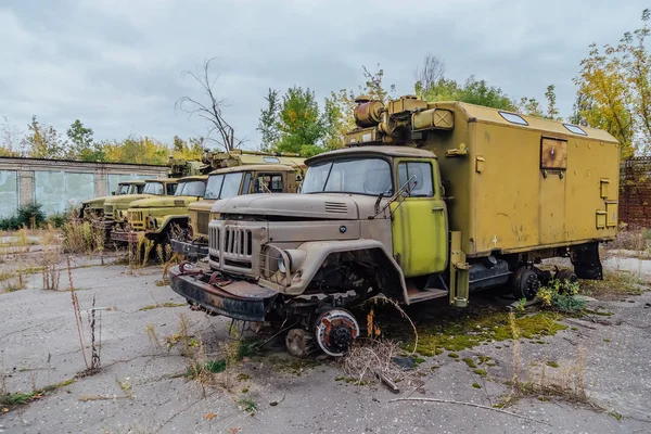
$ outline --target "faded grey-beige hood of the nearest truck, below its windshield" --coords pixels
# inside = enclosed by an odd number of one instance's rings
[[[246,194],[217,201],[213,213],[356,220],[373,215],[376,197],[359,194]],[[383,200],[382,203],[385,203]]]

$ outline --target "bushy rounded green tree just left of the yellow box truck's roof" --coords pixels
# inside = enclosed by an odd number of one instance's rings
[[[278,152],[311,153],[326,136],[326,125],[315,92],[294,86],[282,97],[278,119]]]

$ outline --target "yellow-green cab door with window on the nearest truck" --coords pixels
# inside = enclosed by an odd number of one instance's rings
[[[435,159],[397,159],[396,188],[407,195],[391,205],[393,248],[406,278],[441,272],[447,266],[447,209]]]

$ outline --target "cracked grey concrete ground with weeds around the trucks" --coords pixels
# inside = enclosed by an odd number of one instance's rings
[[[609,259],[608,267],[631,269],[651,281],[651,263]],[[41,399],[0,416],[2,433],[648,433],[651,432],[651,293],[593,301],[590,307],[608,317],[565,320],[567,329],[545,337],[545,345],[522,340],[522,366],[532,361],[574,360],[585,348],[585,385],[593,407],[537,396],[507,408],[527,419],[459,404],[397,401],[422,397],[474,403],[490,407],[510,393],[505,384],[512,372],[512,342],[495,342],[427,358],[421,392],[390,393],[380,384],[358,386],[335,381],[341,367],[324,360],[301,371],[278,369],[271,357],[242,363],[241,380],[231,393],[203,388],[182,375],[188,359],[176,348],[157,347],[145,329],[158,336],[179,331],[184,312],[195,335],[226,342],[228,321],[191,311],[169,288],[156,285],[161,268],[135,275],[124,266],[73,270],[74,285],[86,320],[95,297],[101,311],[100,373],[46,394]],[[61,289],[67,284],[62,275]],[[477,296],[477,304],[494,303]],[[144,307],[150,309],[141,310]],[[173,306],[173,305],[169,305]],[[445,308],[441,303],[419,308]],[[0,352],[11,392],[31,391],[73,378],[85,369],[67,291],[41,289],[41,277],[30,277],[27,289],[0,294]],[[87,327],[87,324],[85,324]],[[88,329],[88,327],[87,327]],[[86,330],[88,334],[88,330]],[[488,356],[496,363],[482,378],[459,361]],[[282,356],[282,355],[281,355]],[[437,366],[437,369],[431,369]],[[552,368],[550,368],[550,371]],[[297,374],[299,373],[299,374]],[[482,388],[473,387],[477,383]],[[128,384],[128,386],[125,386]],[[246,391],[245,393],[243,391]],[[247,397],[258,409],[243,411]],[[270,405],[277,404],[277,405]],[[610,414],[609,414],[610,413]],[[613,416],[621,414],[622,418]],[[239,429],[239,430],[238,430]]]

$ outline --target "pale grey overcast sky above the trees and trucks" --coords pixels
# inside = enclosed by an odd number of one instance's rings
[[[366,4],[366,5],[365,5]],[[130,133],[167,142],[205,133],[175,112],[201,97],[184,69],[219,56],[217,93],[246,148],[267,88],[309,87],[320,101],[357,88],[380,63],[397,94],[413,92],[426,52],[447,76],[474,74],[510,97],[544,100],[557,86],[572,110],[572,78],[588,44],[616,43],[640,25],[642,1],[436,0],[230,2],[216,0],[1,0],[0,116],[31,115],[61,132],[76,118],[97,139]]]

